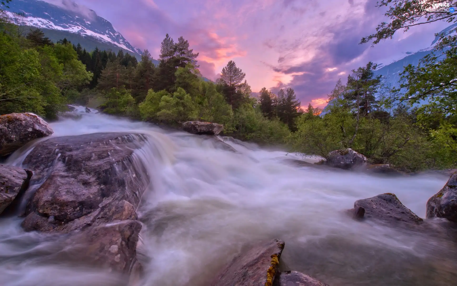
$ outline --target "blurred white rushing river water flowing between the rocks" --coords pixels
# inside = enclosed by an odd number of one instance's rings
[[[79,119],[52,123],[53,136],[142,130],[157,148],[136,153],[153,181],[138,209],[144,286],[206,286],[246,243],[272,238],[286,243],[283,269],[331,286],[452,285],[457,279],[457,253],[448,242],[344,215],[358,199],[392,192],[424,217],[426,201],[445,176],[388,178],[298,167],[285,159],[302,157],[283,151],[227,140],[233,152],[206,137],[77,112]],[[10,163],[20,164],[25,154],[19,155]],[[40,259],[64,246],[58,237],[24,232],[20,223],[0,219],[1,285],[125,285],[113,273]]]

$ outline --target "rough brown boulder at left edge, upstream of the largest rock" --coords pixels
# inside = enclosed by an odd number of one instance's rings
[[[33,113],[0,116],[0,156],[16,151],[28,142],[53,134],[49,124]]]

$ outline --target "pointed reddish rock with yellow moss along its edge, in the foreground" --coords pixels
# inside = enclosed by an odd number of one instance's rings
[[[213,286],[272,286],[284,242],[273,239],[240,254],[218,276]]]

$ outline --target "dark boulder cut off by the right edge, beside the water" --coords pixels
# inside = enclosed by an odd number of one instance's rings
[[[457,172],[427,201],[427,218],[441,217],[457,222]]]

